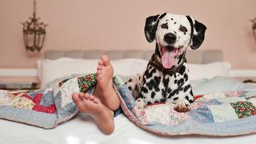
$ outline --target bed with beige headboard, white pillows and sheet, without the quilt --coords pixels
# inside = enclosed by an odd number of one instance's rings
[[[103,50],[71,50],[46,51],[45,59],[38,62],[38,77],[42,80],[42,87],[49,87],[54,81],[72,77],[83,71],[87,73],[95,70],[97,58],[107,54],[113,60],[115,72],[126,80],[143,70],[152,50],[103,51]],[[66,57],[66,58],[63,58]],[[75,59],[74,58],[78,58]],[[225,90],[256,90],[242,82],[229,78],[230,64],[223,62],[222,52],[219,50],[191,50],[187,52],[190,63],[192,87],[194,94],[208,94]],[[126,62],[126,64],[124,64]],[[87,64],[84,66],[83,64]],[[65,65],[65,66],[63,66]],[[79,68],[72,67],[74,65]],[[126,65],[126,66],[123,66]],[[95,67],[94,67],[95,66]],[[126,67],[134,66],[132,70]],[[56,70],[53,67],[57,67]],[[66,67],[69,67],[66,69]],[[205,73],[207,70],[207,73]],[[66,71],[66,74],[62,74]],[[69,122],[54,129],[44,130],[35,126],[28,126],[18,122],[0,119],[0,143],[67,143],[67,144],[98,144],[98,143],[241,143],[255,142],[254,134],[238,137],[209,137],[198,135],[163,137],[140,129],[130,122],[124,114],[114,118],[115,130],[113,134],[105,135],[98,130],[92,118],[86,114],[78,114]]]

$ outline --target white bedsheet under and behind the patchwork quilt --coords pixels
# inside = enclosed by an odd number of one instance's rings
[[[209,94],[222,90],[256,90],[255,86],[248,86],[234,79],[222,77],[192,82],[192,86],[194,88],[194,94]],[[227,138],[198,135],[162,137],[138,128],[123,114],[114,118],[114,122],[116,126],[114,133],[104,135],[98,130],[94,121],[86,114],[78,114],[77,117],[71,119],[69,122],[51,130],[44,130],[35,126],[0,119],[0,144],[236,144],[256,142],[256,134]]]

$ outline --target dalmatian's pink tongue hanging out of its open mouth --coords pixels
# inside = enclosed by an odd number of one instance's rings
[[[166,69],[170,69],[172,66],[174,66],[174,50],[166,50],[162,54],[162,66],[164,66]]]

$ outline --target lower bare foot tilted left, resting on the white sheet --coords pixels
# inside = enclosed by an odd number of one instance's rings
[[[96,122],[98,128],[104,134],[112,134],[114,131],[114,112],[104,106],[94,95],[74,93],[73,102],[78,109],[85,114],[89,114]]]

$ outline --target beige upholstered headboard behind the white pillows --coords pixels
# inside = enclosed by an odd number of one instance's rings
[[[154,50],[48,50],[45,52],[46,59],[57,58],[87,58],[98,59],[102,54],[107,54],[110,59],[121,58],[142,58],[149,60]],[[189,63],[209,63],[223,61],[221,50],[188,50],[186,52],[186,59]]]

